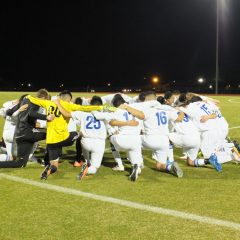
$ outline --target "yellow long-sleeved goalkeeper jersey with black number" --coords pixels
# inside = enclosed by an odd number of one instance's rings
[[[35,105],[38,105],[46,109],[47,115],[54,114],[55,118],[53,121],[47,122],[47,138],[46,143],[58,143],[66,140],[69,137],[68,122],[69,118],[65,118],[59,111],[57,104],[50,100],[43,100],[32,97],[30,95],[27,98]],[[61,100],[61,105],[67,111],[83,111],[91,112],[102,110],[102,106],[81,106],[78,104],[69,103]]]

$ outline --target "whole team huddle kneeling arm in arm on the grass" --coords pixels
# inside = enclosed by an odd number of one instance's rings
[[[41,179],[57,172],[62,148],[76,143],[75,167],[82,180],[96,174],[109,139],[116,166],[124,171],[120,152],[132,165],[129,176],[136,181],[144,168],[143,150],[152,151],[156,169],[183,177],[174,161],[174,148],[181,148],[191,167],[211,165],[217,172],[222,164],[240,161],[235,142],[228,138],[228,123],[219,102],[194,93],[168,91],[157,96],[145,91],[136,97],[122,93],[73,100],[69,91],[51,98],[40,89],[36,96],[23,95],[0,109],[5,118],[0,151],[0,168],[25,167],[35,159],[38,142],[46,139]],[[77,131],[77,129],[80,129]]]

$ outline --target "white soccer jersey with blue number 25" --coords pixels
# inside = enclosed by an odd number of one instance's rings
[[[80,122],[80,131],[85,138],[106,139],[107,130],[103,121],[97,120],[92,113],[71,112],[72,119]]]

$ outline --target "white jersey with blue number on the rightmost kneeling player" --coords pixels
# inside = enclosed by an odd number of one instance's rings
[[[186,108],[181,107],[180,109],[190,117],[199,131],[202,132],[217,128],[216,119],[209,119],[204,123],[200,121],[202,116],[214,113],[214,109],[209,104],[202,101],[194,102],[190,103]]]

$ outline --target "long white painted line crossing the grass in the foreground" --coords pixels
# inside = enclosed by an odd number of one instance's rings
[[[153,212],[153,213],[172,216],[172,217],[176,217],[176,218],[197,221],[200,223],[207,223],[207,224],[211,224],[211,225],[227,227],[227,228],[231,228],[231,229],[240,231],[239,223],[224,221],[224,220],[220,220],[217,218],[204,217],[204,216],[199,216],[196,214],[181,212],[181,211],[177,211],[177,210],[171,210],[171,209],[167,209],[167,208],[153,207],[153,206],[149,206],[146,204],[141,204],[141,203],[126,201],[126,200],[122,200],[122,199],[118,199],[118,198],[97,195],[97,194],[88,193],[88,192],[82,192],[80,190],[75,190],[75,189],[66,188],[66,187],[60,187],[60,186],[52,185],[52,184],[48,184],[48,183],[37,182],[37,181],[30,180],[30,179],[11,176],[11,175],[4,174],[4,173],[0,173],[0,178],[5,178],[7,180],[15,181],[18,183],[24,183],[24,184],[28,184],[31,186],[48,189],[48,190],[53,190],[56,192],[61,192],[61,193],[69,194],[69,195],[86,197],[86,198],[94,199],[94,200],[101,201],[101,202],[113,203],[113,204],[117,204],[120,206],[139,209],[139,210],[143,210],[143,211],[147,211],[147,212]]]

